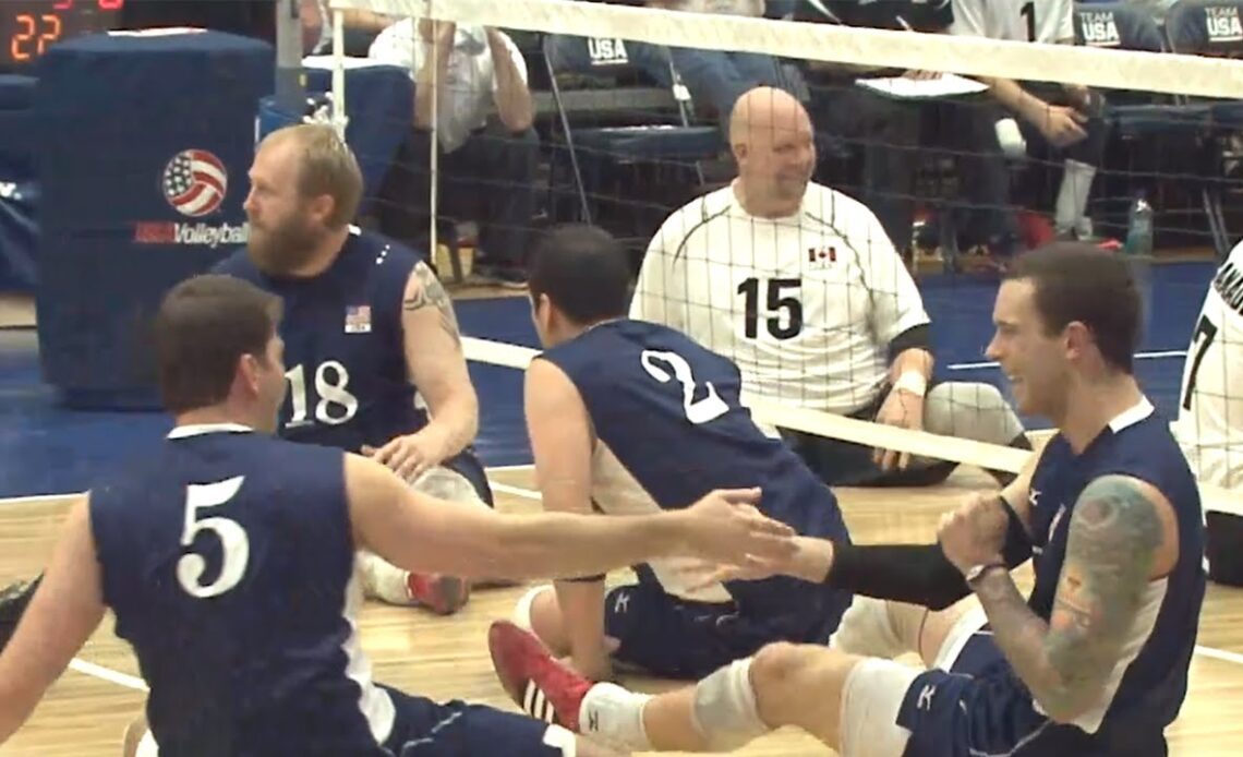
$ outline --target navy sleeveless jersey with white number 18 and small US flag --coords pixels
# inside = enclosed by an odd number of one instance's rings
[[[405,364],[401,300],[419,262],[408,247],[351,227],[341,255],[311,278],[268,276],[246,250],[215,272],[281,297],[288,397],[280,435],[358,451],[413,434],[426,423],[415,408]]]

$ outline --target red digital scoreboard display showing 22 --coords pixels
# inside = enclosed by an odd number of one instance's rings
[[[16,71],[48,47],[113,27],[126,0],[0,0],[0,70]]]

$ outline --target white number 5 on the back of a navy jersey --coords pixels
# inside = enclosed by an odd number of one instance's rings
[[[246,574],[250,562],[250,538],[237,521],[221,516],[199,520],[200,512],[227,505],[237,496],[245,476],[236,476],[215,484],[193,484],[185,490],[185,525],[181,528],[181,547],[193,549],[199,534],[210,533],[220,542],[221,564],[216,579],[204,585],[208,559],[189,551],[177,561],[177,580],[191,597],[206,599],[219,597],[236,587]]]

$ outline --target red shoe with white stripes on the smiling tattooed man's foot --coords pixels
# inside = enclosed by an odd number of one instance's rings
[[[578,710],[592,681],[562,665],[538,636],[508,620],[492,624],[487,648],[496,676],[523,712],[578,732]]]

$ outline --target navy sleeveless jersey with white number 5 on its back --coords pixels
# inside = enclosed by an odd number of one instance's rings
[[[162,755],[387,753],[394,705],[355,636],[343,452],[181,426],[89,506]]]

